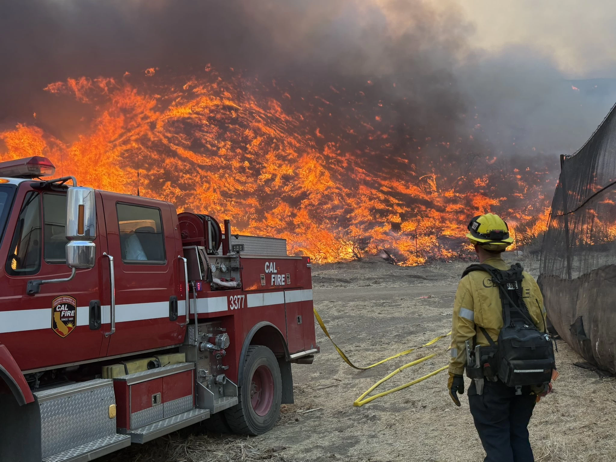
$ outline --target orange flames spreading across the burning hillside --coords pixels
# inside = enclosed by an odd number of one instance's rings
[[[400,136],[386,102],[365,108],[373,81],[365,91],[315,95],[223,78],[209,65],[181,80],[163,80],[158,68],[145,76],[139,85],[129,73],[49,84],[91,108],[89,127],[60,140],[18,124],[0,132],[0,160],[47,156],[62,176],[129,194],[139,166],[142,195],[286,238],[291,253],[316,262],[381,248],[405,264],[449,259],[468,251],[466,223],[476,214],[517,222],[546,214],[548,171],[467,155],[472,140],[463,137]]]

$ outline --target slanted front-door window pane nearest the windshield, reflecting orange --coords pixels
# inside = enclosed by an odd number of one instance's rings
[[[10,243],[7,274],[20,276],[36,274],[41,269],[41,197],[26,194],[17,227]]]

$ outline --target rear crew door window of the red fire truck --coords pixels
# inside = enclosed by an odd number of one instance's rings
[[[164,237],[160,209],[116,204],[122,260],[132,264],[164,264]]]

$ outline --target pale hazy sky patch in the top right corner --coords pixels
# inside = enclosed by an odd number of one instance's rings
[[[498,52],[522,45],[553,60],[570,78],[616,77],[614,0],[452,1],[474,25],[472,46]]]

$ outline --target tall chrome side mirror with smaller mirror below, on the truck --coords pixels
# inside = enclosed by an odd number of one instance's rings
[[[93,188],[76,186],[67,192],[67,266],[94,267],[96,261],[96,198]]]

